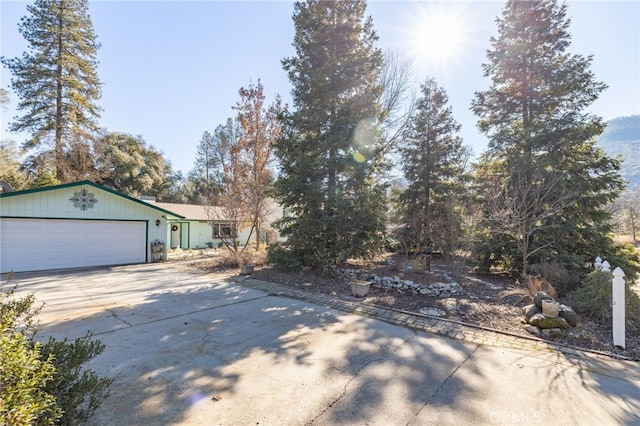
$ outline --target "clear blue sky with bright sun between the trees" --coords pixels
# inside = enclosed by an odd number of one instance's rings
[[[17,23],[25,1],[0,2],[2,55],[26,49]],[[489,37],[504,2],[370,1],[379,47],[414,62],[416,88],[432,76],[449,94],[460,135],[476,154],[486,139],[469,111],[473,94],[489,82],[482,76]],[[594,55],[592,71],[609,85],[592,112],[608,120],[640,114],[640,1],[569,1],[570,51]],[[227,118],[238,89],[261,79],[272,101],[290,103],[281,60],[294,54],[293,3],[288,1],[96,1],[90,14],[98,41],[98,74],[103,83],[101,126],[140,135],[161,150],[175,170],[193,168],[195,148],[205,130]],[[435,19],[434,19],[435,18]],[[429,31],[433,29],[433,31]],[[445,33],[447,36],[445,37]],[[452,40],[445,44],[444,40]],[[430,50],[434,46],[439,49]],[[1,87],[11,76],[2,69]],[[16,115],[13,93],[2,112],[3,140]]]

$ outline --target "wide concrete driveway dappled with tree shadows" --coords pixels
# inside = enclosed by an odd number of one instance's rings
[[[638,363],[431,335],[171,264],[17,274],[41,339],[91,330],[96,425],[639,424]]]

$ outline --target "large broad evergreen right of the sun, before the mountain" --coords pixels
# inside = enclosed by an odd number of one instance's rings
[[[508,1],[483,65],[491,85],[476,93],[472,108],[490,140],[483,162],[493,163],[484,169],[494,171],[493,186],[502,186],[495,193],[519,198],[520,203],[510,203],[520,210],[512,216],[531,222],[522,229],[532,235],[513,238],[527,238],[527,251],[536,252],[532,261],[582,268],[611,248],[605,206],[622,181],[618,162],[595,146],[602,120],[587,111],[606,85],[589,70],[592,57],[567,51],[566,14],[566,4],[555,0]],[[528,206],[526,212],[522,206]],[[544,214],[549,210],[553,214]],[[526,263],[524,269],[526,274]]]

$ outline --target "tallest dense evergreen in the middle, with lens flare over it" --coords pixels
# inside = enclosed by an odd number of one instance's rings
[[[281,232],[302,264],[325,267],[379,245],[383,57],[366,2],[294,6],[296,56],[283,60],[295,111],[276,144]]]

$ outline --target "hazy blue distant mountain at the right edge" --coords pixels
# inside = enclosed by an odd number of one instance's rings
[[[627,189],[640,189],[640,115],[610,120],[598,145],[610,156],[624,159],[620,174],[629,181]]]

